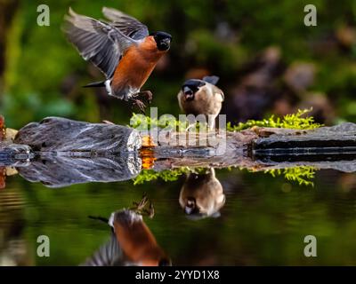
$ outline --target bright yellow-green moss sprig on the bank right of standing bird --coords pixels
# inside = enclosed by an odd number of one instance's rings
[[[302,117],[303,114],[307,114],[312,111],[311,109],[298,110],[296,114],[287,114],[283,118],[275,118],[271,115],[270,118],[263,119],[263,121],[249,120],[247,122],[239,122],[236,126],[231,126],[231,123],[227,123],[227,130],[239,131],[245,130],[250,127],[273,127],[273,128],[289,128],[296,130],[313,130],[322,126],[320,123],[314,122],[312,116]]]

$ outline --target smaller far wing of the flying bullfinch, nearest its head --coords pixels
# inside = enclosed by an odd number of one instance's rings
[[[149,29],[139,20],[134,19],[124,12],[117,11],[112,8],[103,7],[102,13],[105,18],[112,22],[115,28],[118,28],[125,36],[129,36],[134,40],[141,40],[149,36]]]

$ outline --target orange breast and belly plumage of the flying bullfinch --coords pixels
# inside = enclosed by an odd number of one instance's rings
[[[114,89],[125,85],[140,89],[164,53],[158,51],[153,36],[146,37],[140,45],[131,46],[115,70],[112,80]]]

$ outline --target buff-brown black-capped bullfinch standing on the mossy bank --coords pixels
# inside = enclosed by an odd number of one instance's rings
[[[178,93],[182,111],[195,116],[205,115],[209,130],[214,130],[215,118],[222,109],[224,99],[223,91],[215,86],[218,81],[217,76],[206,76],[203,80],[190,79],[183,83]]]

